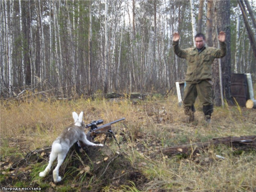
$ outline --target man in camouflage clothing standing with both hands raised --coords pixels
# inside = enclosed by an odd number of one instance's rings
[[[205,120],[211,122],[213,112],[212,103],[212,63],[215,58],[222,58],[226,55],[226,33],[221,31],[218,39],[220,49],[208,47],[205,44],[205,36],[198,33],[195,36],[196,47],[181,49],[179,47],[180,35],[173,34],[173,49],[175,54],[187,60],[188,69],[186,73],[186,88],[184,90],[184,111],[189,116],[189,122],[195,120],[194,103],[198,95],[203,104]]]

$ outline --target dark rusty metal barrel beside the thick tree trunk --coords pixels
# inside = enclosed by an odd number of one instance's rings
[[[239,106],[245,107],[247,95],[246,74],[231,73],[231,97],[234,97]]]

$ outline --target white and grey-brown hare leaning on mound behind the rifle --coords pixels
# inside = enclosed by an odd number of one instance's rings
[[[68,153],[69,148],[78,140],[82,141],[84,144],[92,146],[103,146],[102,144],[95,144],[86,139],[84,133],[85,124],[83,119],[84,112],[82,111],[79,116],[76,112],[73,112],[73,118],[75,124],[67,127],[59,137],[52,143],[52,151],[50,154],[49,164],[43,172],[39,173],[40,177],[45,177],[51,170],[52,162],[58,157],[58,163],[55,169],[52,172],[53,180],[55,183],[61,181],[59,176],[59,168],[63,163],[66,154]]]

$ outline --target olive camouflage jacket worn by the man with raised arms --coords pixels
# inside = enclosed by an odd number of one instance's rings
[[[188,69],[185,78],[187,83],[199,83],[204,79],[211,80],[213,60],[215,58],[222,58],[227,53],[225,42],[220,42],[220,49],[208,47],[205,44],[200,52],[198,52],[196,47],[181,49],[179,41],[173,41],[172,46],[178,57],[187,60]]]

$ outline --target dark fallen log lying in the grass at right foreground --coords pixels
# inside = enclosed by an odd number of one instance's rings
[[[202,150],[207,150],[210,146],[216,145],[228,145],[229,147],[246,149],[252,148],[256,150],[256,135],[242,136],[242,137],[222,137],[212,139],[208,142],[185,144],[176,147],[164,148],[161,151],[157,151],[151,156],[156,156],[159,153],[163,153],[167,156],[174,156],[178,154],[193,155],[200,153]]]

